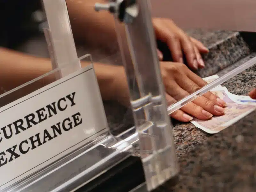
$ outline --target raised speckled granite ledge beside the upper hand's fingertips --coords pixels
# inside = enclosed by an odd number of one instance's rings
[[[250,54],[250,48],[239,32],[189,30],[188,34],[200,40],[210,52],[203,55],[205,68],[201,77],[211,76]]]

